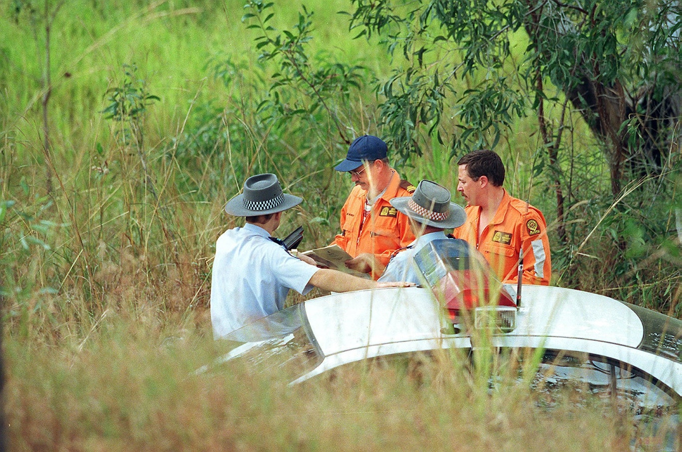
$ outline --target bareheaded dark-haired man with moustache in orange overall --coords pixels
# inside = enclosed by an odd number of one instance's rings
[[[499,155],[481,149],[459,162],[457,191],[467,202],[466,222],[454,237],[475,246],[503,283],[517,284],[523,250],[523,284],[548,286],[552,276],[545,217],[502,187],[505,167]]]

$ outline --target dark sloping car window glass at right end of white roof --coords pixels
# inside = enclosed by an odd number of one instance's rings
[[[644,336],[638,348],[682,363],[682,320],[625,304],[642,320]]]

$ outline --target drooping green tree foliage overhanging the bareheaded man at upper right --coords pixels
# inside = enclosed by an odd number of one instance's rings
[[[549,121],[546,103],[565,110],[569,102],[602,142],[615,196],[627,175],[662,172],[679,146],[677,0],[353,4],[351,29],[376,33],[406,60],[380,87],[383,117],[405,153],[421,153],[423,127],[454,155],[494,147],[533,111],[555,161],[565,124],[563,113]],[[442,127],[447,117],[458,119],[456,132]]]

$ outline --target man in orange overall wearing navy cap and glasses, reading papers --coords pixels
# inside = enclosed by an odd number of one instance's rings
[[[349,172],[355,187],[341,209],[341,233],[332,243],[353,257],[346,267],[372,273],[374,280],[395,250],[415,240],[408,217],[389,202],[411,196],[415,187],[400,179],[386,155],[383,140],[364,135],[351,143],[346,160],[334,167]]]

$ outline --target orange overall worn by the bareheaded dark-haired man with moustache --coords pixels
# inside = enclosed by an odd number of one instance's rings
[[[466,206],[466,222],[453,236],[475,245],[503,283],[518,282],[518,257],[523,247],[523,284],[549,286],[550,242],[542,212],[517,198],[504,197],[492,221],[477,237],[481,207]]]

